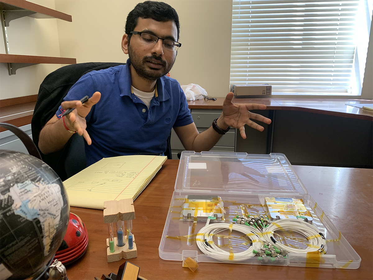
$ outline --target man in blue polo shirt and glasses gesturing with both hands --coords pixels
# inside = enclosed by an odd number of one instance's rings
[[[264,128],[250,119],[271,120],[249,112],[266,109],[259,104],[233,104],[233,93],[213,125],[198,133],[179,83],[165,74],[175,62],[179,18],[162,2],[139,3],[128,14],[122,50],[126,65],[92,71],[71,87],[56,115],[41,130],[39,148],[44,154],[62,149],[73,133],[86,140],[87,166],[101,158],[163,153],[172,127],[186,150],[210,150],[229,127],[246,138],[244,125]],[[89,96],[82,104],[83,96]],[[68,116],[62,113],[75,108]]]

